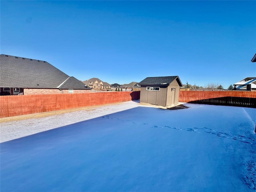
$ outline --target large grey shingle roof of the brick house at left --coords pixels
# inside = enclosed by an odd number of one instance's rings
[[[50,63],[42,60],[28,59],[10,55],[0,55],[0,86],[22,88],[58,88],[70,78]],[[67,83],[76,84],[76,78]],[[79,89],[85,89],[77,80]],[[63,83],[64,84],[64,83]],[[70,84],[70,85],[71,85]],[[68,84],[67,84],[68,85]],[[66,86],[66,88],[73,88]]]

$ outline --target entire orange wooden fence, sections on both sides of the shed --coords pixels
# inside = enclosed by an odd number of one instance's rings
[[[0,118],[139,98],[140,91],[0,96]],[[180,91],[179,102],[256,108],[256,91]]]

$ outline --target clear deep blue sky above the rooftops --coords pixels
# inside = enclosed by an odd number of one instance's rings
[[[256,76],[256,1],[0,1],[0,53],[110,84]]]

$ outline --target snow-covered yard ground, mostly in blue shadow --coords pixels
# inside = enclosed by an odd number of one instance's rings
[[[1,192],[255,191],[256,109],[185,105],[131,101],[2,123]]]

